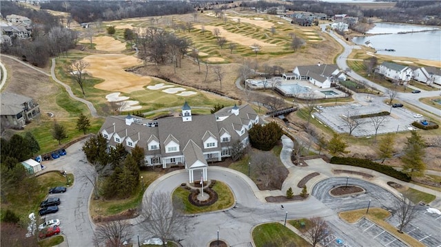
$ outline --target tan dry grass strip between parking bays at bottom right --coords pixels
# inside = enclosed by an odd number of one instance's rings
[[[367,219],[370,219],[372,222],[375,222],[378,224],[378,226],[381,226],[384,228],[384,230],[387,230],[391,235],[394,235],[398,237],[399,239],[402,239],[404,242],[409,244],[409,246],[415,246],[415,247],[422,247],[424,244],[421,244],[418,240],[414,239],[413,237],[405,234],[405,233],[398,233],[398,230],[395,226],[392,226],[391,224],[384,221],[387,217],[391,215],[389,211],[386,211],[382,208],[369,208],[369,213],[366,214],[367,208],[362,208],[354,211],[346,211],[339,213],[338,216],[340,218],[344,219],[345,221],[349,222],[350,224],[358,222],[362,217],[366,217]]]

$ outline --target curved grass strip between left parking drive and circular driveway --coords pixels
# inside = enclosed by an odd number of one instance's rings
[[[122,200],[91,200],[90,201],[90,216],[92,219],[97,217],[107,217],[110,215],[116,215],[130,208],[137,208],[142,200],[145,189],[158,178],[161,173],[154,171],[141,171],[140,178],[143,176],[144,190],[141,186],[137,189],[135,195]]]

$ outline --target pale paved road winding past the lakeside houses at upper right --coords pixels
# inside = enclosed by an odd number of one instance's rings
[[[322,30],[324,29],[322,25],[320,25],[320,28]],[[347,42],[340,39],[340,36],[338,36],[337,34],[335,34],[332,31],[329,31],[327,33],[331,37],[336,39],[336,41],[344,47],[342,54],[340,54],[340,56],[337,57],[337,65],[343,71],[347,71],[347,69],[349,69],[349,66],[347,65],[347,58],[348,58],[349,54],[351,54],[352,50],[360,49],[360,46],[359,45],[349,45]],[[365,82],[367,85],[378,89],[380,92],[385,93],[387,90],[386,87],[382,87],[381,85],[373,83],[371,80],[368,80],[367,78],[362,77],[359,74],[357,74],[356,72],[353,72],[351,70],[349,72],[347,72],[347,75],[351,76],[352,78],[354,78],[355,80],[358,80],[360,82]],[[435,116],[441,117],[441,110],[440,109],[436,109],[435,107],[431,107],[430,105],[425,105],[423,103],[420,103],[420,101],[419,101],[420,98],[434,97],[434,96],[439,96],[439,95],[440,95],[440,91],[426,91],[426,92],[421,92],[420,94],[411,94],[410,92],[409,93],[398,93],[396,96],[396,99],[402,100],[402,101],[409,103],[411,105],[415,105],[416,107],[418,107],[424,111],[427,111],[427,113],[429,113],[429,114],[433,114]]]

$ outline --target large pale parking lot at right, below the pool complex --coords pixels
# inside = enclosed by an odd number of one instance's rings
[[[378,127],[378,134],[395,133],[398,131],[409,131],[413,129],[411,123],[415,120],[424,118],[415,118],[416,113],[404,107],[391,107],[383,103],[387,100],[385,97],[371,96],[367,94],[358,95],[358,103],[350,105],[335,105],[322,107],[313,113],[314,118],[325,126],[334,129],[337,133],[349,133],[349,127],[345,118],[347,116],[358,116],[362,114],[375,114],[381,111],[390,112],[389,116],[384,116],[384,120]],[[352,136],[375,136],[376,128],[372,118],[359,118],[360,125],[353,129]]]

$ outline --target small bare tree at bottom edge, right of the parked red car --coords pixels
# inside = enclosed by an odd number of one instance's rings
[[[96,227],[94,242],[105,243],[105,246],[123,247],[124,239],[132,235],[130,223],[127,220],[115,220],[101,223]]]

